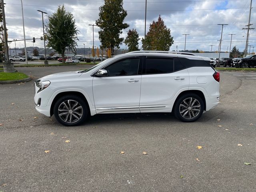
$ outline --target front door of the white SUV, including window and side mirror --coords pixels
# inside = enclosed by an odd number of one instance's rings
[[[97,113],[140,112],[142,57],[127,57],[105,66],[106,76],[93,77]]]

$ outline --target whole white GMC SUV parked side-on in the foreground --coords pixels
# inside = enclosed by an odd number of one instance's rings
[[[109,58],[84,71],[35,82],[36,110],[65,126],[103,113],[174,112],[194,122],[219,103],[220,74],[210,59],[137,51]]]

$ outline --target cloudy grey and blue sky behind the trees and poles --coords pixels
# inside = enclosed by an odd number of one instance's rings
[[[8,28],[8,40],[22,39],[22,9],[20,0],[4,0],[6,3],[5,14]],[[36,10],[42,10],[48,14],[56,12],[59,5],[64,4],[66,10],[71,12],[76,19],[79,35],[78,48],[92,47],[92,26],[98,19],[99,7],[104,4],[103,0],[23,0],[24,24],[26,38],[40,38],[42,36],[42,14]],[[130,25],[123,30],[122,37],[125,38],[126,31],[136,29],[140,38],[144,36],[145,22],[145,0],[124,0],[124,9],[127,17],[124,22]],[[256,1],[252,2],[256,8]],[[256,12],[252,8],[251,27],[256,25]],[[223,28],[222,51],[230,46],[229,34],[232,37],[232,46],[237,46],[240,51],[244,50],[246,42],[245,25],[248,24],[250,0],[147,0],[146,31],[150,23],[157,20],[161,15],[165,25],[170,28],[174,37],[174,44],[170,50],[184,50],[185,36],[190,34],[186,40],[186,50],[218,50],[218,40],[221,35],[221,26],[217,24],[228,24]],[[47,23],[48,18],[44,16]],[[98,39],[98,27],[94,27],[94,44],[100,45]],[[141,47],[141,41],[139,46]],[[250,31],[249,45],[256,46],[256,32]],[[14,42],[10,44],[14,48]],[[24,42],[16,42],[17,47],[24,47]],[[32,40],[27,40],[27,46],[32,46]],[[43,41],[36,40],[34,46],[43,47]],[[122,44],[121,48],[125,48]],[[256,49],[256,48],[255,48]],[[252,51],[252,50],[251,50]]]

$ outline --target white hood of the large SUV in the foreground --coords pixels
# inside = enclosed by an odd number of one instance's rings
[[[62,73],[54,73],[51,75],[44,76],[40,78],[41,81],[47,80],[62,80],[62,79],[74,79],[78,78],[82,73],[78,73],[78,71],[71,71],[71,72],[62,72]]]

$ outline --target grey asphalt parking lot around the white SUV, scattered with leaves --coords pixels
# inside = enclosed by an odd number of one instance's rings
[[[84,67],[17,68],[34,79],[0,84],[0,192],[256,191],[256,73],[221,72],[220,104],[194,123],[104,114],[65,127],[35,110],[34,80]]]

